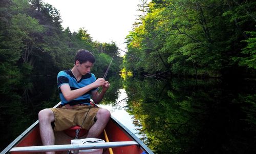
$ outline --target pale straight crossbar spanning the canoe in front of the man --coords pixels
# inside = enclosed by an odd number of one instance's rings
[[[64,145],[42,145],[42,146],[24,146],[13,147],[10,151],[23,152],[47,152],[47,151],[68,151],[68,150],[85,150],[85,149],[101,149],[110,147],[121,147],[138,145],[135,141],[121,142],[105,142],[105,143],[90,143],[90,144],[64,144]]]

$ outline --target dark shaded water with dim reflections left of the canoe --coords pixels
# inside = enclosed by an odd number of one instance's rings
[[[37,120],[40,109],[58,102],[53,88],[55,80],[51,77],[0,79],[1,151]]]

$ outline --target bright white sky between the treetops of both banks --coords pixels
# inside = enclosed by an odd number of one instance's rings
[[[125,50],[125,37],[132,31],[139,14],[139,0],[43,0],[61,15],[63,28],[71,32],[79,28],[88,30],[93,40],[99,42],[115,41]]]

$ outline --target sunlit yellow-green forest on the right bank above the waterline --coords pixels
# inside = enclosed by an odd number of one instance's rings
[[[256,2],[141,0],[126,36],[126,70],[178,76],[255,77]]]

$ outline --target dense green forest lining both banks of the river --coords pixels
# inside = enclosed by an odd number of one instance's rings
[[[87,49],[103,73],[178,76],[256,76],[256,2],[138,1],[138,19],[126,36],[127,54],[115,42],[93,40],[85,28],[71,32],[61,15],[41,0],[0,3],[2,76],[49,75],[71,68],[77,50]],[[103,67],[102,67],[103,66]]]

